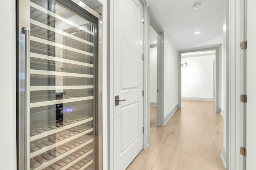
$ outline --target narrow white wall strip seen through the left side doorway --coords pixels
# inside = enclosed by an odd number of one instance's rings
[[[150,48],[150,102],[157,102],[157,48]]]

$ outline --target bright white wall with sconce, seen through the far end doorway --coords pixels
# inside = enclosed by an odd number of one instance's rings
[[[181,96],[184,98],[214,98],[215,55],[182,57],[187,67],[181,67]]]

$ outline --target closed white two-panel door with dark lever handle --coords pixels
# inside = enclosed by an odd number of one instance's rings
[[[143,4],[114,0],[114,170],[124,170],[143,148]]]

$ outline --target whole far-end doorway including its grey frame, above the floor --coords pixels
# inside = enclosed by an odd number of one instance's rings
[[[179,95],[181,100],[214,101],[221,110],[221,47],[179,52]]]

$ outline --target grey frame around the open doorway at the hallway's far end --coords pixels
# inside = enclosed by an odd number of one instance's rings
[[[178,108],[181,108],[181,54],[182,53],[191,53],[196,51],[210,51],[215,50],[215,71],[216,71],[216,84],[215,84],[215,111],[220,113],[221,110],[221,45],[213,46],[213,47],[204,47],[198,49],[189,49],[179,51],[179,59],[178,59]]]

